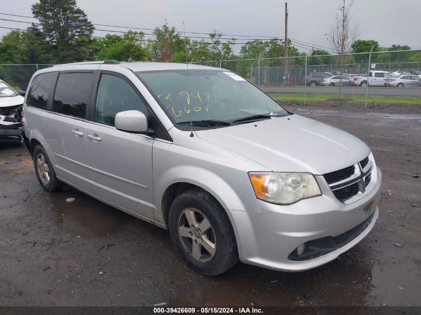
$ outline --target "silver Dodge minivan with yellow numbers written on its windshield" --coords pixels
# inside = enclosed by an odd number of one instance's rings
[[[43,69],[23,124],[42,188],[68,184],[168,229],[204,275],[238,260],[320,266],[379,215],[382,175],[363,141],[284,109],[228,70],[115,61]]]

